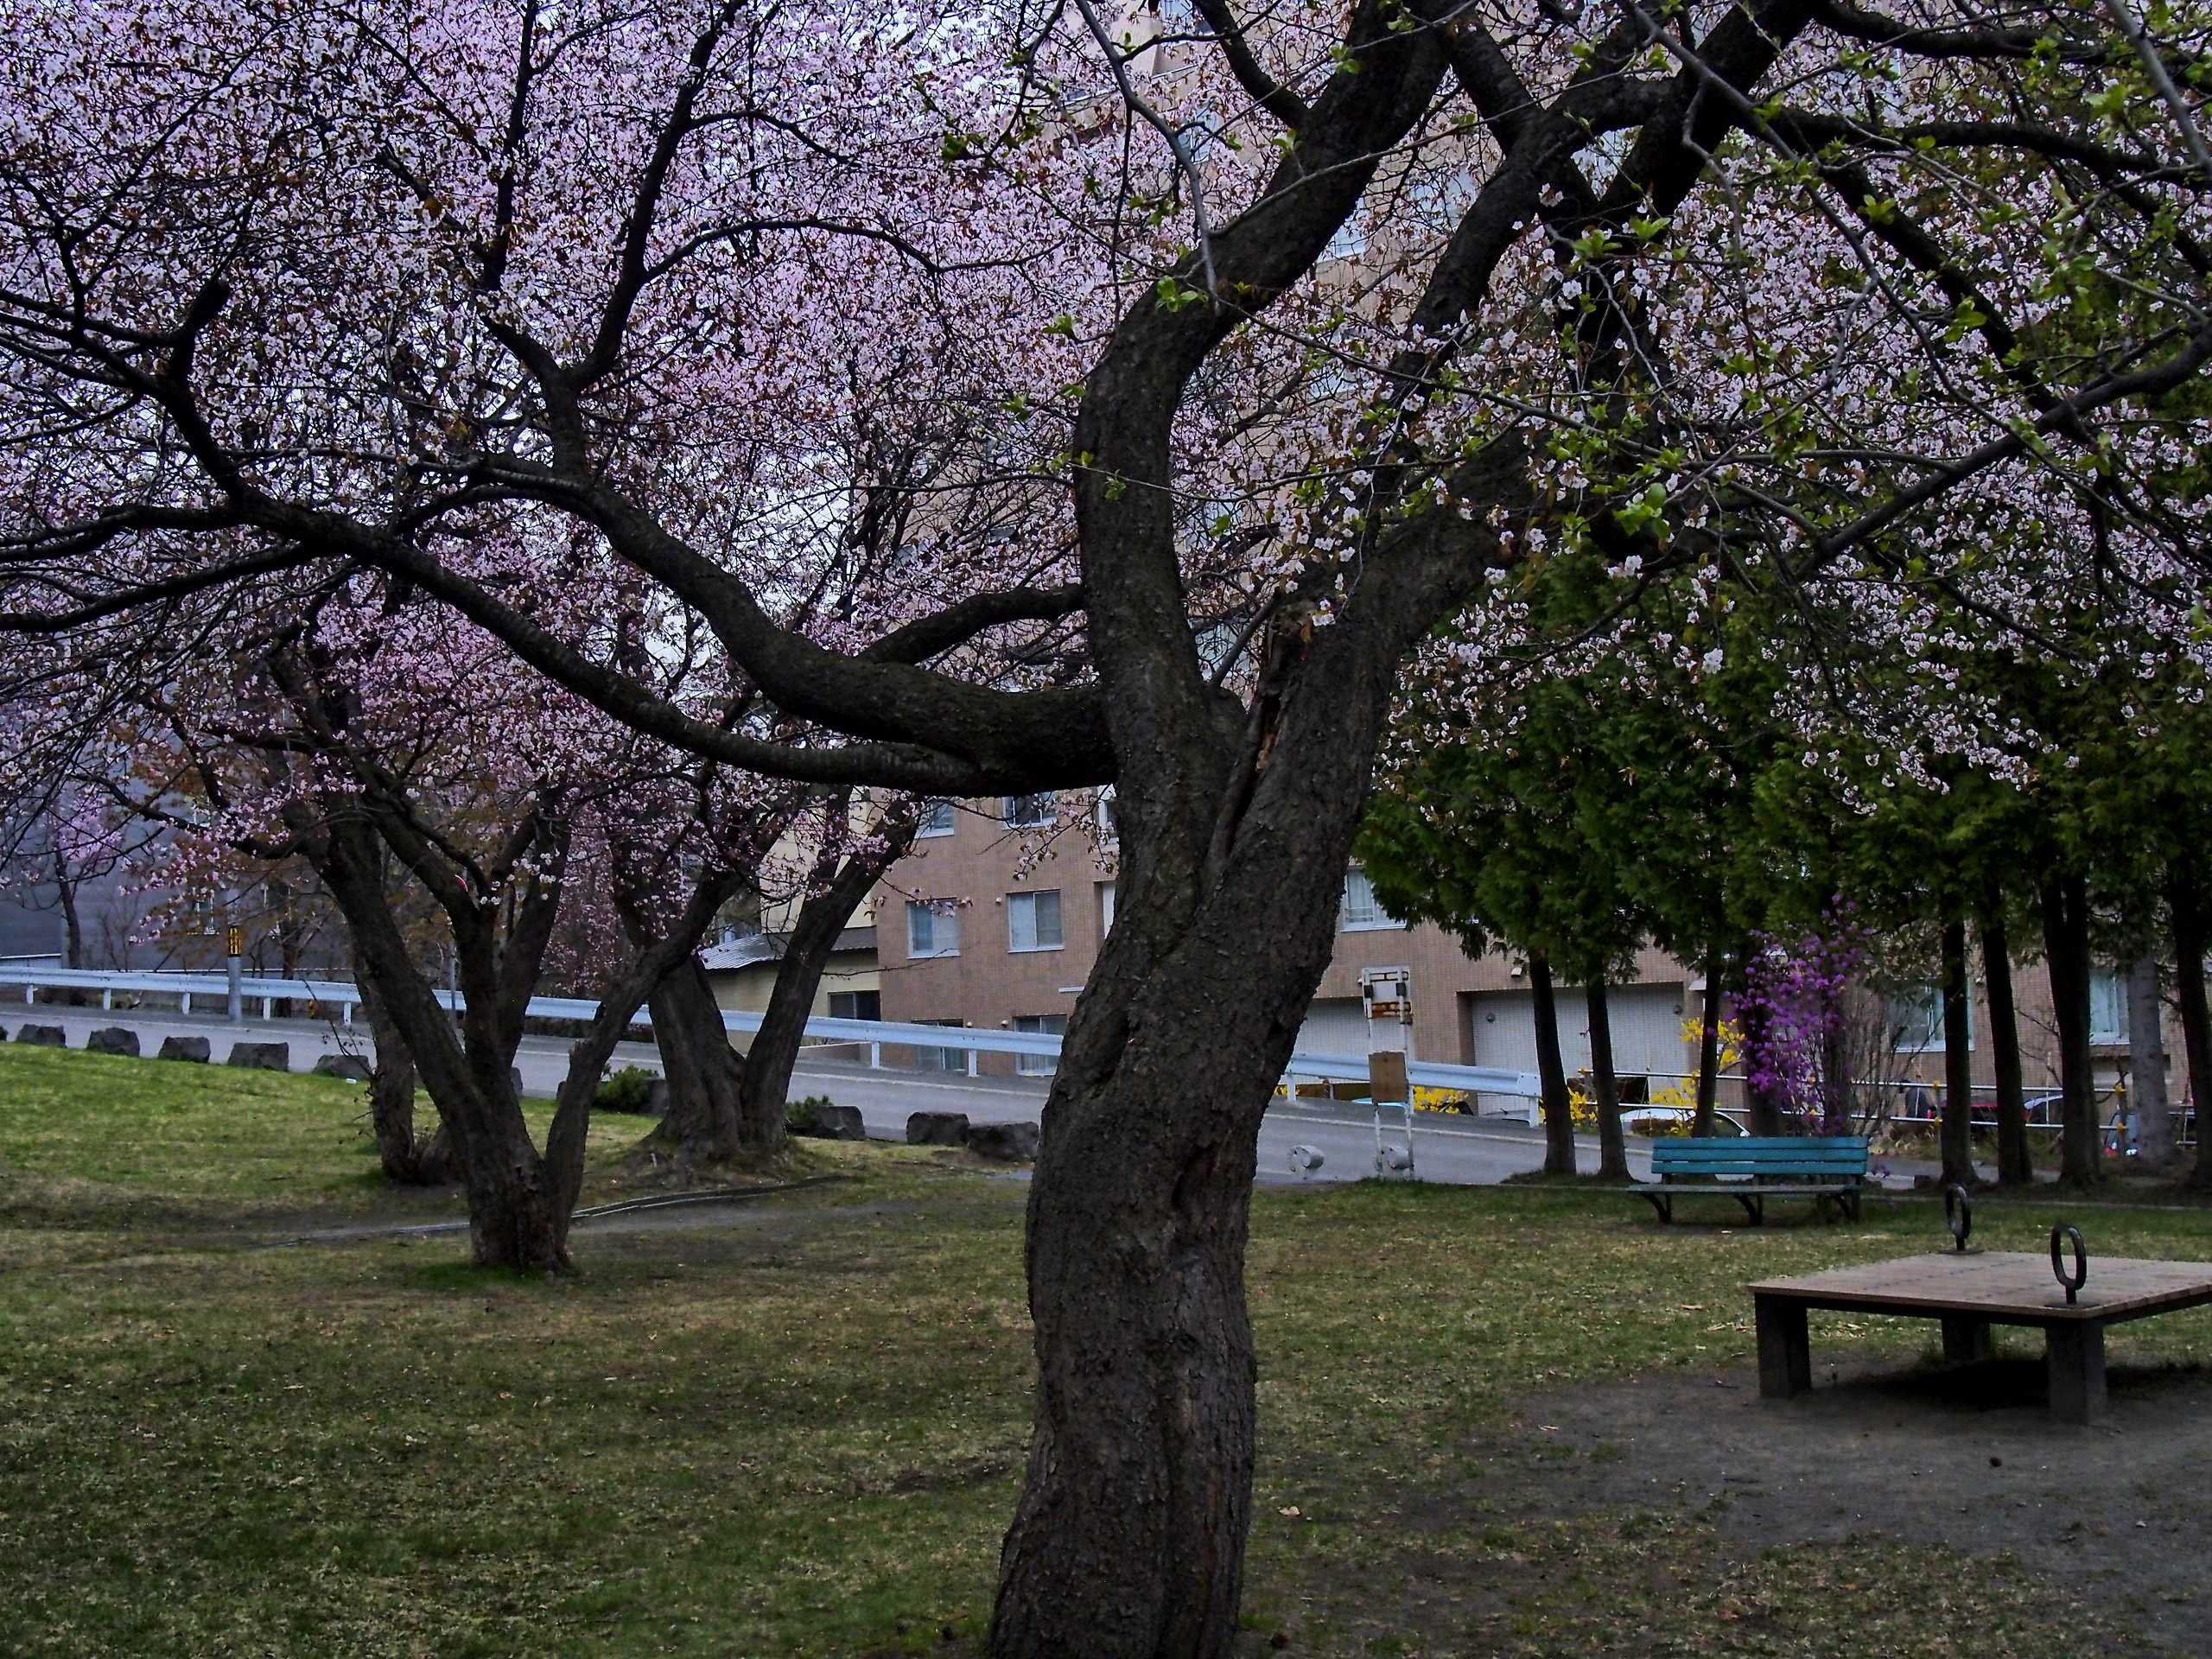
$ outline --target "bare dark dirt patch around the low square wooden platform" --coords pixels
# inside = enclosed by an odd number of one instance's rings
[[[1745,1555],[1869,1537],[2008,1555],[2154,1650],[2212,1655],[2212,1374],[2115,1363],[2104,1420],[2064,1427],[2037,1338],[2000,1340],[1955,1369],[1832,1349],[1787,1402],[1750,1369],[1564,1394],[1467,1442],[1475,1482],[1400,1513],[1418,1535],[1502,1509],[1644,1509],[1697,1513]]]

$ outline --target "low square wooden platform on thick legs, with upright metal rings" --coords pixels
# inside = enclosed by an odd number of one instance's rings
[[[1763,1279],[1752,1290],[1759,1314],[1759,1391],[1787,1400],[1812,1387],[1812,1338],[1805,1314],[1896,1314],[1942,1323],[1947,1360],[1991,1356],[1991,1325],[2028,1325],[2044,1334],[2051,1416],[2095,1422],[2104,1411],[2104,1327],[2212,1303],[2208,1261],[2095,1263],[2077,1301],[2051,1276],[2046,1256],[2015,1252],[1942,1252],[1869,1261],[1798,1279]]]

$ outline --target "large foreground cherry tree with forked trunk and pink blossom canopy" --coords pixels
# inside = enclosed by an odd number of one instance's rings
[[[1922,657],[1938,595],[2033,626],[2099,562],[2177,622],[2203,575],[2159,405],[2212,361],[2199,13],[1197,11],[139,0],[0,46],[0,622],[44,684],[336,566],[759,776],[1115,781],[1006,1659],[1230,1648],[1254,1139],[1440,624],[1562,551],[1624,615],[1694,595],[1690,670],[1745,580]],[[863,407],[942,467],[821,613]],[[602,568],[712,697],[568,604]]]

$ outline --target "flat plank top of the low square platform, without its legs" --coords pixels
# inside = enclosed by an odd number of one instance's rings
[[[2073,1267],[2070,1252],[2066,1265]],[[2026,1252],[1944,1250],[1796,1279],[1761,1279],[1750,1290],[1754,1296],[1807,1305],[1898,1314],[1978,1314],[2028,1323],[2110,1321],[2212,1303],[2212,1261],[2132,1261],[2090,1254],[2088,1283],[2070,1307],[2066,1290],[2051,1274],[2051,1256]]]

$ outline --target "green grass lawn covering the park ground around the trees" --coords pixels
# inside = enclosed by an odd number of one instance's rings
[[[712,1228],[580,1232],[560,1281],[471,1270],[449,1234],[272,1243],[303,1217],[458,1212],[383,1194],[358,1113],[319,1079],[0,1048],[0,1655],[973,1650],[1026,1442],[1018,1183],[810,1146],[794,1170],[849,1179]],[[593,1197],[639,1133],[595,1128]],[[1984,1206],[1978,1243],[2046,1225]],[[1754,1232],[1590,1192],[1261,1192],[1254,1641],[2057,1652],[2073,1590],[2017,1566],[1874,1540],[1840,1571],[1668,1504],[1555,1515],[1482,1451],[1540,1438],[1544,1400],[1743,1365],[1745,1279],[1936,1228],[1924,1203]],[[2212,1212],[2108,1210],[2093,1239],[2212,1259]],[[1816,1334],[1900,1367],[1929,1338]],[[2212,1316],[2128,1345],[2208,1365]],[[1703,1610],[1679,1646],[1655,1597]]]

